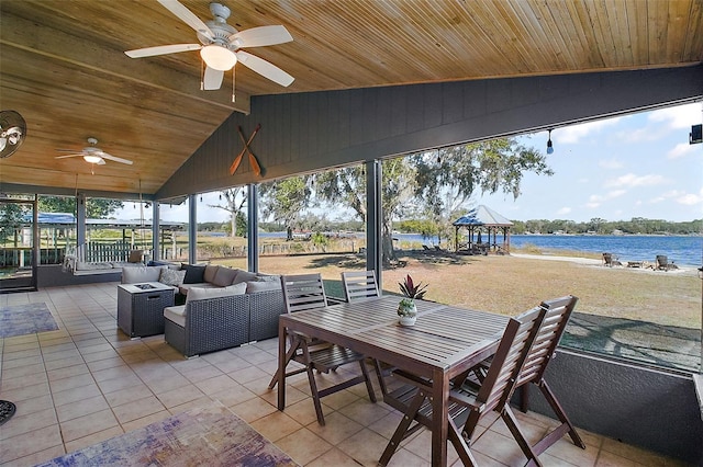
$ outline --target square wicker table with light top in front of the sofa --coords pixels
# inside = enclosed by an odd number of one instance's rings
[[[159,282],[118,285],[118,326],[130,338],[164,333],[164,308],[174,306],[174,287]]]

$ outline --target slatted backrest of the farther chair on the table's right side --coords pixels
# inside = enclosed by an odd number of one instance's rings
[[[538,381],[544,377],[578,300],[577,297],[568,295],[540,304],[546,311],[545,318],[525,365],[517,376],[517,386]]]

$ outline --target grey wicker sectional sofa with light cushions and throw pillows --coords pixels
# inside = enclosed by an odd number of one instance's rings
[[[122,282],[157,282],[166,267],[178,266],[135,269],[123,273]],[[181,265],[187,270],[186,278],[189,267],[192,265]],[[186,303],[164,310],[166,342],[190,357],[278,335],[278,317],[286,312],[279,276],[217,265],[202,267],[203,282],[174,284],[186,295]],[[194,275],[194,280],[199,277]]]

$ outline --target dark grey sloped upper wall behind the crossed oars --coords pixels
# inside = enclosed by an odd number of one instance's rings
[[[233,114],[157,197],[260,182],[247,158],[228,174],[242,149],[237,125],[250,132],[261,123],[253,148],[268,180],[702,95],[703,66],[258,96],[252,113]]]

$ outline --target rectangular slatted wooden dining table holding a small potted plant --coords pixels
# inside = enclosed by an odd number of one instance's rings
[[[415,300],[417,321],[402,327],[399,300],[387,295],[281,315],[278,410],[286,408],[287,332],[322,339],[432,379],[432,465],[446,466],[449,381],[495,353],[509,317]]]

